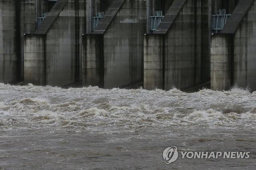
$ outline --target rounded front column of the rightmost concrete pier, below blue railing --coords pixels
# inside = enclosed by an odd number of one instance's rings
[[[211,89],[228,90],[231,85],[232,36],[215,34],[211,42]]]

